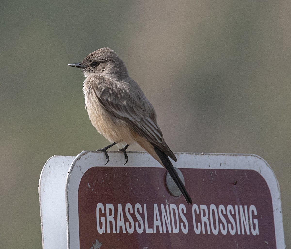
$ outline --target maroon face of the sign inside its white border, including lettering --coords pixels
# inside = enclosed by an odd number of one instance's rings
[[[78,190],[80,248],[276,248],[259,173],[180,170],[192,205],[168,192],[164,168],[89,168]]]

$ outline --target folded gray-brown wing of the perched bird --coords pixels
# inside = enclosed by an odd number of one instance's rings
[[[100,77],[97,82],[92,83],[91,87],[107,111],[125,121],[134,132],[177,161],[164,141],[157,124],[155,109],[135,81],[129,78],[120,83],[114,79]]]

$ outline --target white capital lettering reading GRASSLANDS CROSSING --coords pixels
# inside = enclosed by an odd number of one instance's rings
[[[117,213],[117,214],[116,214]],[[192,205],[191,221],[185,217],[186,207],[180,204],[153,204],[153,214],[148,215],[147,204],[118,203],[117,210],[112,203],[98,203],[96,221],[99,234],[103,233],[182,233],[187,234],[189,226],[194,227],[196,234],[258,235],[259,224],[257,209],[254,205],[223,205],[204,204]],[[153,217],[152,220],[148,219]],[[138,222],[134,222],[134,218]]]

